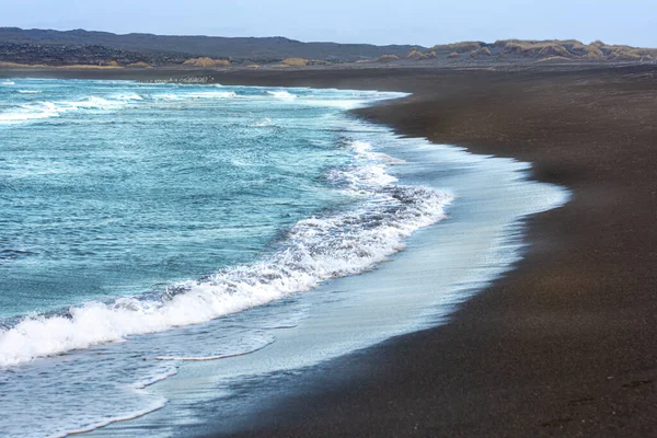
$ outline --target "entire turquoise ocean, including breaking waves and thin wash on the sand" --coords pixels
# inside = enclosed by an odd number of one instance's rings
[[[0,435],[175,436],[507,270],[567,193],[348,112],[405,95],[0,80]]]

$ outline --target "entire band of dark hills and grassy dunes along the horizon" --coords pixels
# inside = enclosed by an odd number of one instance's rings
[[[0,27],[0,67],[104,66],[229,68],[235,65],[485,65],[531,62],[657,62],[657,49],[566,41],[463,42],[411,45],[302,43],[285,37],[227,38]]]

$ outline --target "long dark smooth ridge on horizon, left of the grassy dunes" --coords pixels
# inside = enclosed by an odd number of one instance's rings
[[[196,57],[276,61],[285,58],[354,62],[383,55],[402,56],[414,46],[374,46],[371,44],[301,43],[285,37],[227,38],[220,36],[173,36],[151,34],[116,35],[107,32],[22,30],[0,27],[0,43],[55,46],[103,46],[131,53],[180,54]]]

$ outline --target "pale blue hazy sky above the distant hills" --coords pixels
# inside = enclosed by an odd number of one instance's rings
[[[512,37],[657,47],[657,0],[0,0],[0,26],[425,46]]]

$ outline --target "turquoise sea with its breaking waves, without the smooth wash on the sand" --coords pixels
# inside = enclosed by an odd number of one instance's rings
[[[400,161],[349,131],[346,110],[401,95],[1,82],[0,411],[23,407],[0,433],[159,408],[143,387],[180,361],[257,350],[301,314],[242,312],[371,269],[442,219],[448,194],[396,184]],[[197,325],[231,314],[249,323]]]

